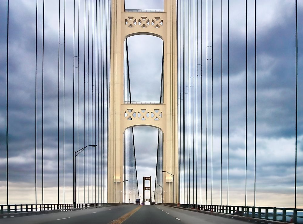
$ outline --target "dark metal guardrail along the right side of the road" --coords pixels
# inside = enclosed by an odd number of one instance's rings
[[[177,204],[163,204],[177,206]],[[218,212],[230,215],[252,217],[257,219],[266,219],[271,221],[303,224],[303,209],[195,204],[179,204],[178,206],[187,209],[197,209],[209,212]]]

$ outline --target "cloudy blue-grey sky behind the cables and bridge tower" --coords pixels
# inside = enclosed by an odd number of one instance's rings
[[[67,75],[65,77],[66,114],[72,114],[73,79],[73,1],[67,2],[65,47]],[[206,1],[203,1],[201,21],[201,1],[198,7],[191,1],[191,13],[186,6],[185,19],[179,17],[181,29],[178,39],[178,67],[183,86],[188,86],[188,80],[195,84],[181,89],[178,96],[186,99],[189,92],[202,87],[201,97],[195,98],[191,94],[191,101],[195,100],[199,110],[198,116],[191,108],[186,115],[186,122],[181,125],[190,127],[189,149],[194,145],[203,145],[196,152],[202,153],[201,171],[193,170],[197,174],[189,189],[189,202],[205,203],[205,159],[206,159],[206,46],[208,57],[213,51],[213,59],[208,60],[208,149],[213,148],[213,203],[220,204],[221,193],[221,1],[213,1],[213,41],[211,36],[211,1],[208,1],[208,24],[206,24]],[[246,77],[246,32],[245,32],[245,1],[230,2],[230,33],[229,33],[229,64],[230,64],[230,128],[229,128],[229,204],[244,204],[245,193],[245,77]],[[257,0],[257,171],[256,171],[256,205],[257,206],[294,206],[294,174],[295,174],[295,1],[290,0]],[[298,21],[303,19],[303,4],[298,2]],[[9,33],[9,194],[11,203],[33,203],[35,197],[35,1],[16,0],[10,2],[10,33]],[[45,1],[45,140],[44,140],[44,171],[45,171],[45,202],[57,201],[57,78],[58,78],[58,2]],[[187,4],[187,3],[186,3]],[[38,71],[42,69],[42,5],[38,14]],[[181,1],[178,5],[183,9]],[[6,2],[0,3],[0,28],[6,31]],[[194,21],[193,8],[198,8],[198,20]],[[62,9],[63,9],[62,5]],[[163,9],[163,0],[139,1],[125,0],[126,9]],[[180,10],[180,8],[178,8]],[[182,11],[183,12],[183,11]],[[222,28],[222,200],[227,200],[227,75],[228,75],[228,23],[227,1],[223,1]],[[63,14],[61,14],[63,16]],[[191,15],[189,22],[188,15]],[[81,16],[83,17],[82,13]],[[61,30],[63,22],[61,18]],[[254,1],[248,1],[248,204],[253,205],[254,191],[254,128],[255,128],[255,36],[254,36]],[[188,26],[191,32],[183,26]],[[179,23],[180,24],[180,23]],[[208,25],[208,41],[206,43],[206,25]],[[83,20],[80,22],[83,26]],[[197,32],[195,26],[198,27]],[[201,35],[202,26],[202,35]],[[181,32],[185,34],[181,35]],[[64,31],[60,31],[63,36]],[[303,104],[302,68],[303,68],[303,28],[298,23],[298,195],[297,207],[303,207]],[[83,32],[80,32],[80,45],[83,46]],[[189,40],[189,41],[188,41]],[[60,40],[63,43],[63,39]],[[90,42],[91,43],[91,42]],[[148,45],[146,45],[148,43]],[[181,44],[180,44],[181,43]],[[184,44],[185,43],[185,44]],[[158,101],[161,83],[162,44],[160,38],[139,35],[128,38],[129,67],[131,93],[133,101]],[[202,44],[202,45],[201,45]],[[5,109],[6,109],[6,32],[0,33],[0,204],[6,203],[6,146],[5,146]],[[60,71],[63,74],[63,44],[61,46]],[[201,52],[202,48],[202,52]],[[196,50],[198,49],[198,51]],[[79,60],[83,59],[83,47],[80,47]],[[105,49],[106,50],[106,49]],[[187,53],[196,52],[198,56],[187,58]],[[105,64],[106,56],[100,59]],[[202,63],[201,63],[202,61]],[[189,63],[188,63],[189,62]],[[213,62],[213,71],[211,63]],[[202,64],[202,86],[200,68],[194,66]],[[83,63],[80,73],[83,77]],[[188,71],[188,72],[187,72]],[[199,74],[200,72],[200,74]],[[211,74],[213,73],[213,143],[211,144]],[[189,76],[189,79],[188,79]],[[38,114],[41,114],[41,72],[38,73]],[[192,77],[192,78],[190,78]],[[194,78],[195,77],[195,78]],[[148,79],[148,81],[146,81]],[[60,77],[60,202],[63,202],[63,77]],[[194,87],[195,86],[195,87]],[[185,92],[184,92],[185,90]],[[181,93],[181,95],[180,95]],[[186,94],[187,93],[187,94]],[[83,96],[83,88],[79,90]],[[185,98],[184,98],[185,97]],[[180,100],[181,105],[183,104]],[[180,105],[180,104],[179,104]],[[82,111],[83,104],[80,105]],[[105,108],[106,105],[100,106]],[[186,107],[187,108],[187,107]],[[181,113],[183,116],[183,113]],[[188,125],[187,117],[196,117],[199,124],[197,134]],[[72,116],[65,117],[65,150],[68,153],[65,161],[65,201],[72,203]],[[81,120],[81,119],[80,119]],[[193,120],[191,120],[193,122]],[[200,125],[201,124],[201,125]],[[41,129],[39,115],[38,127]],[[82,120],[80,126],[82,127]],[[41,132],[38,132],[38,202],[41,202]],[[187,130],[186,130],[187,131]],[[138,170],[138,183],[142,195],[143,176],[152,177],[155,181],[158,130],[151,127],[135,127],[135,149]],[[80,142],[83,142],[83,131],[80,131]],[[182,134],[181,134],[182,135]],[[186,139],[187,140],[187,139]],[[183,139],[181,138],[181,142]],[[182,142],[183,143],[183,142]],[[100,146],[102,148],[102,146]],[[210,151],[208,151],[208,201],[210,201]],[[183,154],[181,153],[181,157]],[[186,160],[188,161],[188,160]],[[192,161],[192,160],[191,160]],[[194,162],[194,161],[192,161]],[[188,167],[185,166],[187,169]],[[195,166],[194,166],[195,168]],[[185,177],[187,175],[185,170]],[[181,173],[183,175],[183,173]],[[201,177],[200,177],[201,175]],[[80,174],[81,176],[81,174]],[[80,177],[82,178],[82,176]],[[182,178],[181,178],[182,181]],[[201,181],[201,182],[200,182]],[[201,183],[201,184],[200,184]],[[186,186],[186,185],[185,185]],[[200,190],[201,188],[201,190]],[[24,191],[26,190],[26,194]],[[185,190],[186,192],[186,190]],[[201,193],[200,193],[201,192]],[[81,193],[80,193],[81,194]],[[82,196],[82,194],[81,194]],[[80,196],[80,198],[81,198]],[[195,199],[197,196],[197,200]],[[183,198],[183,189],[181,189]],[[186,199],[187,195],[185,195]],[[194,197],[191,199],[191,197]],[[200,201],[201,197],[201,201]]]

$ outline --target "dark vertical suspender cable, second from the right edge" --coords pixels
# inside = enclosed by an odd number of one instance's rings
[[[254,206],[256,206],[256,156],[257,156],[257,8],[255,0],[255,182],[254,182]]]

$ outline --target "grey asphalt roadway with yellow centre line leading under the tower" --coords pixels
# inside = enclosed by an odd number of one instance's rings
[[[82,223],[211,223],[244,224],[247,222],[211,216],[162,205],[119,205],[71,212],[0,219],[5,224],[82,224]]]

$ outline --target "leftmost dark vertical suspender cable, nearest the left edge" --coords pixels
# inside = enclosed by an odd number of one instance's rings
[[[6,36],[6,203],[8,204],[8,25],[9,0],[7,0],[7,36]]]

